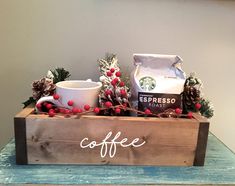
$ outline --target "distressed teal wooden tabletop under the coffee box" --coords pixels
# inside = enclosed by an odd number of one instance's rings
[[[12,140],[0,153],[0,185],[235,185],[235,155],[212,134],[204,167],[16,165],[14,148]]]

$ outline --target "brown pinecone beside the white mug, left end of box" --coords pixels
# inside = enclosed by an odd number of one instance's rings
[[[42,78],[33,82],[32,90],[33,98],[38,100],[41,97],[53,95],[55,91],[55,84],[53,84],[52,79]]]

